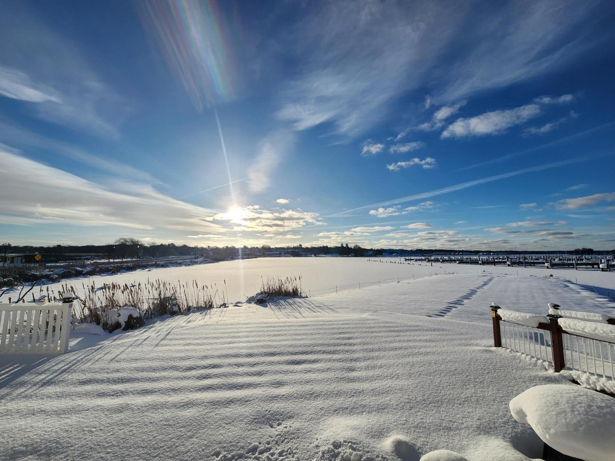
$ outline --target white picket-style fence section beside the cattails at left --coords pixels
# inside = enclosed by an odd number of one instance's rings
[[[62,302],[0,304],[0,353],[68,352],[73,297]]]

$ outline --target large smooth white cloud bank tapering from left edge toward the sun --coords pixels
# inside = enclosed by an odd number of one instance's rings
[[[145,184],[117,181],[110,189],[1,150],[0,165],[6,168],[0,171],[2,223],[225,231],[205,221],[214,211],[172,199]]]

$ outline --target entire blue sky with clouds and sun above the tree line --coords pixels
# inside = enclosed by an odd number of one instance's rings
[[[2,2],[1,239],[614,248],[613,19]]]

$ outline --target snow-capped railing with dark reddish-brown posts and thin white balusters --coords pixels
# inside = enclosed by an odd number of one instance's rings
[[[603,314],[559,309],[533,315],[491,305],[493,343],[564,369],[615,382],[615,319]]]

